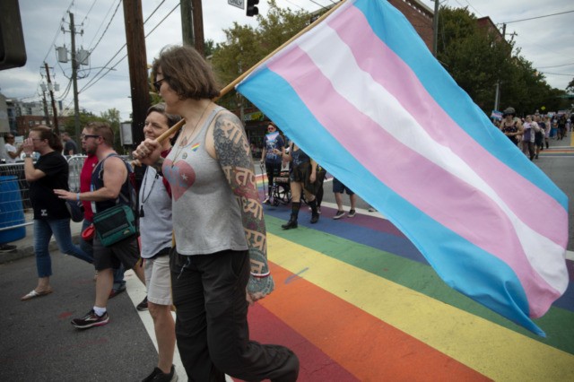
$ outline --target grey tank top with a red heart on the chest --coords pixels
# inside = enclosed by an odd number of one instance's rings
[[[173,230],[181,255],[248,249],[239,204],[219,161],[205,151],[207,128],[222,109],[213,109],[196,138],[183,146],[176,143],[163,162],[163,176],[171,186]]]

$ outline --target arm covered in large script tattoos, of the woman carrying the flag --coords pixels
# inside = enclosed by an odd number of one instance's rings
[[[236,196],[248,242],[251,277],[248,301],[263,299],[274,289],[267,266],[267,239],[263,206],[259,201],[255,169],[243,126],[238,117],[224,111],[215,119],[213,148],[216,158]]]

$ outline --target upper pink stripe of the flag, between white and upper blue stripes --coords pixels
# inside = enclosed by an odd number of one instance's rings
[[[352,50],[361,69],[370,73],[375,82],[393,94],[435,141],[471,165],[521,221],[559,246],[565,246],[563,238],[568,238],[568,213],[561,204],[474,142],[440,108],[412,69],[378,39],[360,10],[350,7],[328,24]],[[356,41],[361,41],[361,44]],[[389,75],[389,68],[392,68],[392,75]],[[532,196],[532,203],[527,203],[528,208],[525,208],[523,199],[517,199],[517,194]],[[560,213],[552,221],[539,218],[548,211]]]

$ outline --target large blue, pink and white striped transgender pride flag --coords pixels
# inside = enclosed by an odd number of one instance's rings
[[[449,286],[525,326],[566,290],[567,197],[394,7],[348,0],[237,86]]]

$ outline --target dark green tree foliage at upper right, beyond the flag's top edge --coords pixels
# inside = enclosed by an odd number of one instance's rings
[[[474,102],[490,116],[496,84],[500,82],[499,109],[512,106],[519,115],[562,109],[563,91],[552,89],[544,74],[514,51],[514,43],[497,30],[480,28],[467,8],[441,6],[437,58]]]

